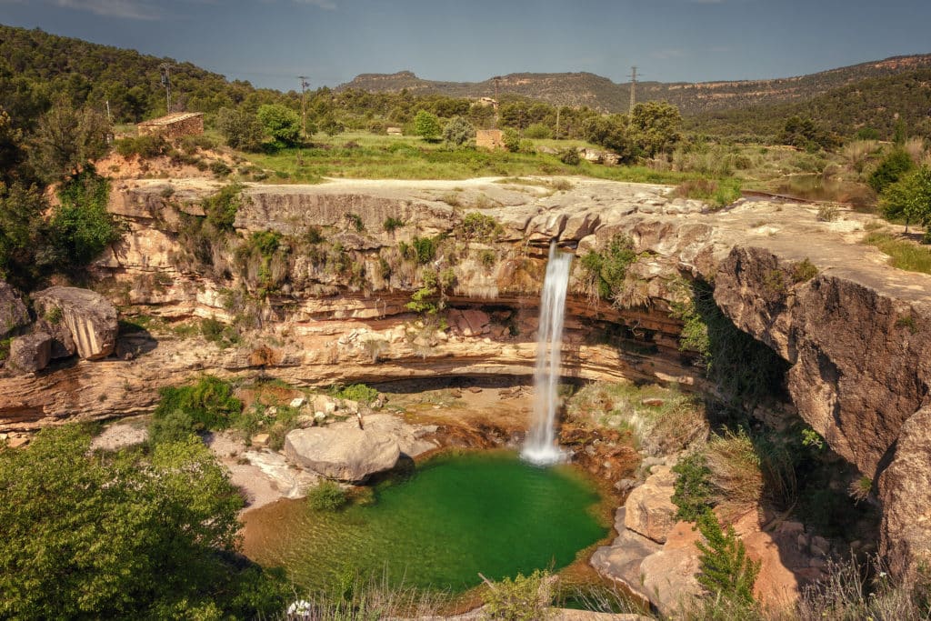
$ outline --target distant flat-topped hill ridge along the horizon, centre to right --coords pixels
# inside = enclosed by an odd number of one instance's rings
[[[639,82],[638,101],[665,100],[679,106],[683,115],[810,100],[818,95],[866,79],[931,68],[931,54],[897,56],[884,61],[863,62],[817,74],[771,80],[730,82],[661,83]],[[360,74],[335,90],[358,88],[371,92],[440,94],[450,97],[493,97],[495,80],[484,82],[438,82],[417,77],[410,71],[397,74]],[[603,112],[627,112],[630,84],[616,84],[596,74],[507,74],[497,84],[500,95],[518,95],[560,105],[587,105]]]

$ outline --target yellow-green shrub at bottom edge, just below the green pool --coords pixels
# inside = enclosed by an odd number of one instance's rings
[[[494,621],[542,621],[550,618],[551,582],[548,572],[535,570],[528,576],[517,574],[513,580],[505,578],[489,583],[482,594],[485,601],[482,618]]]

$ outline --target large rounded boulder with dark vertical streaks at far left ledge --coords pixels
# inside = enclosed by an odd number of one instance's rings
[[[113,353],[116,309],[100,293],[75,287],[52,287],[35,293],[33,301],[40,317],[68,329],[81,358],[96,360]],[[66,339],[57,340],[56,351],[69,349]]]

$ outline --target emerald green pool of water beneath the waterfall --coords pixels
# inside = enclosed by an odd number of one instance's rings
[[[607,533],[599,502],[569,466],[538,468],[510,453],[442,456],[378,486],[370,505],[318,512],[290,501],[250,512],[247,553],[310,589],[358,573],[459,592],[478,585],[479,572],[498,580],[572,563]]]

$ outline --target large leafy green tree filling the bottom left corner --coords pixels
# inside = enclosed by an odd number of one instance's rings
[[[283,576],[236,557],[242,499],[196,438],[92,453],[77,425],[0,449],[0,617],[251,618]]]

